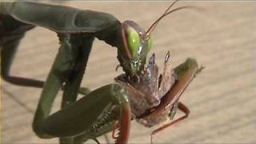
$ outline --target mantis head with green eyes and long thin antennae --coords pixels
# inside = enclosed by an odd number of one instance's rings
[[[151,33],[162,18],[177,10],[194,8],[194,6],[180,6],[170,10],[175,2],[178,2],[178,0],[174,1],[146,31],[133,21],[122,22],[119,29],[121,46],[118,48],[118,60],[126,74],[138,77],[138,74],[142,72],[146,64],[146,55],[152,46]]]

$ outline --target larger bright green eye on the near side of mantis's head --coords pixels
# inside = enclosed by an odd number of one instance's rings
[[[138,54],[138,48],[139,46],[141,46],[141,41],[137,31],[131,27],[128,28],[127,41],[132,56],[136,57],[136,55]]]

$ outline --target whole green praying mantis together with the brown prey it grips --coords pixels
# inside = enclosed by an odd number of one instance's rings
[[[116,143],[127,143],[131,120],[152,127],[171,121],[176,110],[182,110],[184,116],[150,134],[153,142],[154,134],[186,118],[190,111],[179,98],[202,67],[198,67],[195,59],[188,58],[172,70],[169,52],[160,76],[154,54],[146,65],[151,33],[158,22],[176,10],[190,8],[181,6],[170,10],[175,2],[146,31],[133,21],[119,22],[111,14],[93,10],[34,2],[0,2],[2,78],[20,86],[43,88],[34,115],[34,133],[39,138],[58,137],[61,143],[72,144],[88,139],[98,142],[99,136],[112,130]],[[46,82],[9,74],[20,39],[34,26],[56,32],[60,42]],[[118,61],[125,74],[118,75],[112,84],[90,91],[80,84],[94,38],[118,48]],[[50,115],[59,90],[63,90],[62,110]],[[77,100],[78,94],[84,97]]]

